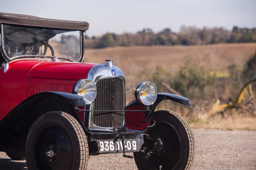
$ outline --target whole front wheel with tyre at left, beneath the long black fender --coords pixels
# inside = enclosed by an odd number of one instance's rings
[[[71,115],[48,112],[31,126],[26,141],[29,170],[84,170],[88,144],[80,123]]]

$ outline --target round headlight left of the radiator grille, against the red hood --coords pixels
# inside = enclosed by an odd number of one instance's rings
[[[73,93],[84,98],[86,104],[90,104],[96,97],[96,85],[89,79],[82,79],[76,82]]]

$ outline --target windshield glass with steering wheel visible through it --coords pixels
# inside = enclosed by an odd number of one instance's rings
[[[2,25],[3,50],[9,60],[51,57],[79,62],[80,31]]]

